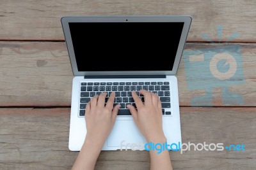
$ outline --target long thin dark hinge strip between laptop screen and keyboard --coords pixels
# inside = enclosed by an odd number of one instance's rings
[[[84,79],[90,78],[166,78],[166,75],[97,75],[84,76]]]

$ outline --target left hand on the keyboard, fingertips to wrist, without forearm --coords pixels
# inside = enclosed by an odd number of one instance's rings
[[[111,93],[105,106],[106,96],[107,93],[103,92],[100,96],[92,97],[92,100],[86,105],[85,111],[86,139],[92,139],[102,145],[115,124],[116,115],[120,108],[120,104],[113,108],[115,92]]]

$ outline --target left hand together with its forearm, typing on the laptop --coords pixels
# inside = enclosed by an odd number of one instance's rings
[[[120,104],[113,108],[115,92],[112,92],[105,106],[107,93],[92,97],[86,105],[85,121],[87,134],[84,145],[72,169],[94,169],[100,150],[106,141],[113,125]]]

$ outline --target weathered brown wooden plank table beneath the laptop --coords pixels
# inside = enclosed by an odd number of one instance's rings
[[[183,143],[243,144],[246,150],[170,152],[170,157],[174,169],[256,169],[255,9],[255,0],[1,0],[0,169],[70,169],[77,157],[78,152],[68,150],[73,75],[61,29],[63,15],[191,15],[185,52],[238,45],[237,69],[243,74],[234,81],[242,83],[228,89],[243,96],[243,102],[223,103],[222,84],[212,85],[207,97],[212,107],[191,104],[206,90],[191,90],[186,69],[193,74],[209,66],[195,68],[183,57],[177,74],[180,119]],[[220,41],[218,25],[223,27]],[[225,43],[235,32],[238,36]],[[195,75],[191,81],[202,79]],[[149,167],[148,152],[129,150],[101,152],[95,169]]]

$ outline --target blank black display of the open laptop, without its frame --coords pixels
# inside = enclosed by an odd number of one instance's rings
[[[172,71],[184,22],[70,22],[78,71]]]

